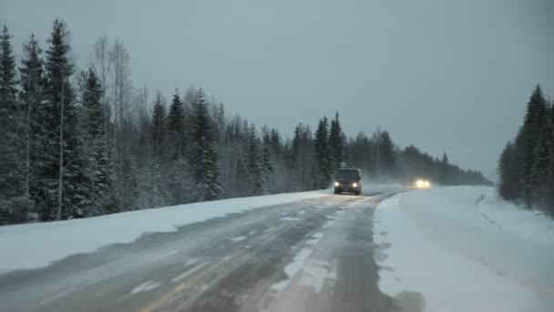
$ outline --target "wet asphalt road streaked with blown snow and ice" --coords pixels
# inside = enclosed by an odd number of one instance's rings
[[[387,196],[269,206],[8,273],[0,310],[398,310],[374,261],[374,209]]]

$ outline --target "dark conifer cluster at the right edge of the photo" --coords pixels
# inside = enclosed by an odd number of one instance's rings
[[[498,161],[500,195],[550,213],[554,213],[553,105],[538,85],[516,139],[508,142]]]

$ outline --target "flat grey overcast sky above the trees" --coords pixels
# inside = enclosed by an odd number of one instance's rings
[[[491,176],[537,83],[554,97],[552,0],[0,0],[15,52],[55,17],[87,65],[120,38],[135,87],[204,88],[231,113],[286,135],[339,110]]]

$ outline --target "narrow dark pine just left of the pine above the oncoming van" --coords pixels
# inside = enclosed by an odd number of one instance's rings
[[[331,182],[333,172],[332,158],[329,153],[329,124],[327,118],[319,121],[315,138],[313,140],[313,153],[315,157],[315,166],[318,172],[318,188],[326,189]]]

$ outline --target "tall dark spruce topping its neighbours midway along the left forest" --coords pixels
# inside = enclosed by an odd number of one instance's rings
[[[219,197],[218,154],[214,147],[214,137],[208,104],[200,88],[192,104],[192,146],[190,162],[192,173],[197,183],[200,201],[211,201]]]

